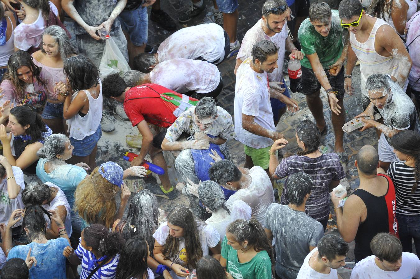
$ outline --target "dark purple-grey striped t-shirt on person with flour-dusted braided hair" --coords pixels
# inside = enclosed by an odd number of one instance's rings
[[[346,175],[336,153],[323,154],[317,158],[290,156],[283,158],[276,168],[276,176],[286,177],[294,173],[306,173],[312,177],[312,194],[306,202],[306,213],[315,220],[328,218],[330,214],[329,186],[332,180],[341,180]],[[281,204],[289,204],[287,179],[281,194]]]

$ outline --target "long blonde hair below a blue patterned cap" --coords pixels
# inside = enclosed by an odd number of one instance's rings
[[[109,228],[115,221],[115,196],[120,188],[103,178],[98,170],[99,167],[96,167],[89,178],[83,179],[77,186],[74,210],[88,224],[102,224]]]

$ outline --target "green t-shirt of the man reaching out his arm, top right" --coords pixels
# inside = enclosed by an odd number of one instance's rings
[[[309,18],[305,19],[297,33],[302,52],[304,54],[314,54],[316,52],[324,69],[329,69],[329,66],[333,65],[343,52],[343,42],[341,40],[343,29],[340,25],[338,10],[332,10],[331,29],[326,37],[323,37],[315,30]],[[306,56],[300,63],[303,67],[312,69]]]

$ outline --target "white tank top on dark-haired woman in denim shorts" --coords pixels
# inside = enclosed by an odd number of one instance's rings
[[[94,134],[99,127],[102,118],[102,83],[99,80],[99,96],[94,99],[88,90],[80,90],[73,94],[71,100],[76,98],[77,94],[86,94],[89,99],[89,111],[85,116],[77,113],[71,119],[67,120],[68,132],[70,137],[75,140],[83,140],[85,137]]]

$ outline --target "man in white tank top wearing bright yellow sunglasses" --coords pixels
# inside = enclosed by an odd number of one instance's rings
[[[339,5],[341,26],[350,32],[344,90],[353,94],[352,71],[360,61],[360,89],[363,110],[369,105],[366,80],[373,73],[391,75],[401,88],[407,88],[412,61],[395,30],[380,18],[365,14],[360,0],[343,0]],[[363,42],[363,43],[362,43]],[[371,50],[375,49],[375,52]]]

